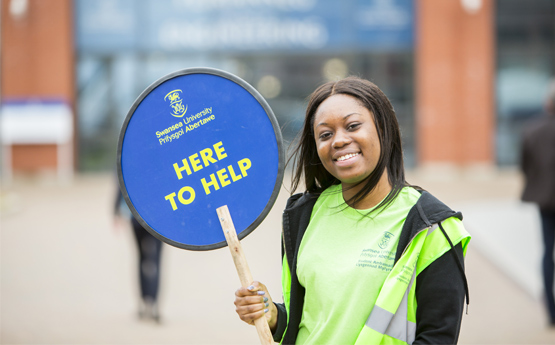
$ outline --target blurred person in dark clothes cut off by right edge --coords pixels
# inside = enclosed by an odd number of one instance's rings
[[[550,326],[555,327],[555,80],[548,90],[545,111],[545,116],[531,123],[523,132],[520,164],[526,180],[522,201],[533,202],[540,210],[546,307]]]

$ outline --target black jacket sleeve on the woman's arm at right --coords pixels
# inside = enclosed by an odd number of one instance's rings
[[[413,344],[456,344],[458,341],[465,282],[453,252],[464,265],[463,248],[459,243],[426,267],[416,279],[416,338]]]

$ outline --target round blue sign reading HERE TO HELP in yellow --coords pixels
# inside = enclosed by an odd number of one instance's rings
[[[226,246],[216,209],[227,205],[239,239],[273,206],[283,145],[264,98],[211,68],[167,75],[131,107],[118,142],[120,189],[135,218],[179,248]]]

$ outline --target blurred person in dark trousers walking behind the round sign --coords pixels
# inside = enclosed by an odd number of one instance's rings
[[[158,290],[160,286],[162,242],[145,230],[135,217],[133,217],[119,190],[116,196],[114,216],[116,228],[122,227],[123,221],[127,222],[130,220],[135,235],[139,254],[139,283],[141,290],[139,318],[160,323]]]

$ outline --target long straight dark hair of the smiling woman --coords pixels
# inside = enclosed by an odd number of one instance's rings
[[[348,77],[339,81],[328,82],[318,87],[310,96],[303,128],[297,137],[297,145],[288,160],[293,161],[294,174],[291,181],[291,193],[299,187],[303,176],[308,192],[320,194],[326,188],[340,181],[333,177],[322,165],[316,148],[314,138],[314,116],[316,110],[326,99],[333,95],[349,95],[370,111],[380,141],[380,157],[376,168],[368,178],[361,181],[361,188],[347,204],[355,206],[368,195],[378,184],[384,170],[392,190],[387,197],[376,207],[391,203],[406,185],[405,169],[403,166],[403,149],[401,145],[401,132],[395,111],[387,96],[372,82],[358,77]]]

